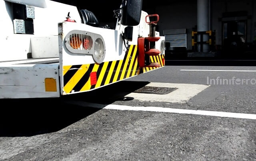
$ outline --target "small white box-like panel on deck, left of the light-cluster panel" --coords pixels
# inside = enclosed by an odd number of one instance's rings
[[[32,58],[59,57],[58,36],[31,37]]]

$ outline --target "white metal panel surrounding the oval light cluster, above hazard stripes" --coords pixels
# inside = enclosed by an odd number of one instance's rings
[[[103,62],[124,59],[126,49],[123,45],[121,31],[117,31],[114,29],[104,29],[100,27],[92,27],[86,24],[64,22],[62,34],[63,39],[72,30],[88,31],[99,34],[103,37],[106,46],[106,56]],[[71,53],[66,49],[65,43],[62,42],[62,45],[63,50],[60,60],[63,66],[95,63],[92,55]]]

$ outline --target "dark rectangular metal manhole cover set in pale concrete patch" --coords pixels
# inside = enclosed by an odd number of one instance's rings
[[[147,93],[147,94],[168,94],[178,88],[156,87],[156,86],[144,86],[134,93]]]

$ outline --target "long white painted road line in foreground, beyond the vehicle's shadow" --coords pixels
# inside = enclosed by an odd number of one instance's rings
[[[176,114],[194,114],[194,115],[204,115],[204,116],[243,118],[243,119],[256,120],[256,114],[242,114],[242,113],[202,111],[202,110],[184,110],[184,109],[163,108],[163,107],[136,107],[136,106],[115,105],[115,104],[103,105],[103,104],[94,104],[94,103],[88,103],[88,102],[82,102],[82,101],[68,101],[67,103],[76,104],[78,106],[86,106],[86,107],[109,109],[109,110],[166,112],[166,113],[176,113]]]

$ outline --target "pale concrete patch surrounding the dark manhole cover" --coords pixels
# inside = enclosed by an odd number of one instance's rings
[[[154,102],[171,102],[171,103],[185,103],[190,98],[196,96],[208,88],[208,85],[202,84],[179,84],[179,83],[150,83],[146,86],[178,88],[169,94],[145,94],[145,93],[130,93],[126,97],[133,97],[135,100],[154,101]]]

